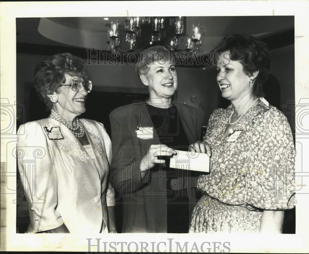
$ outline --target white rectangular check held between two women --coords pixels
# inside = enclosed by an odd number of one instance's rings
[[[170,159],[170,167],[185,170],[209,172],[210,157],[205,153],[176,150],[177,155]]]

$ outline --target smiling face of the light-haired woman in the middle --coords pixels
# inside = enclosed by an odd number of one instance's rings
[[[149,65],[146,75],[141,75],[144,85],[149,88],[150,98],[171,98],[177,88],[175,65],[169,62],[155,62]]]

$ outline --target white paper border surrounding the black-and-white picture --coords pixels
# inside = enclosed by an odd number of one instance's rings
[[[189,8],[188,8],[189,7]],[[307,1],[122,1],[122,2],[1,2],[0,3],[0,49],[1,49],[1,98],[10,102],[16,100],[16,18],[21,17],[103,17],[126,16],[295,16],[295,104],[301,98],[309,99],[308,80],[308,2]],[[141,15],[142,14],[142,15]],[[16,128],[16,126],[15,126]],[[16,135],[1,137],[1,174],[6,167],[6,147],[16,141]],[[296,134],[296,141],[303,146],[303,156],[309,154],[307,138]],[[304,156],[306,157],[306,156]],[[308,157],[308,156],[307,156]],[[296,157],[296,160],[298,158]],[[308,160],[308,159],[307,159]],[[308,161],[304,161],[305,166]],[[16,166],[16,163],[15,163]],[[16,169],[10,169],[16,172]],[[309,180],[309,169],[297,169],[303,185]],[[2,175],[3,177],[4,175]],[[306,177],[307,176],[307,177]],[[6,177],[6,176],[5,176]],[[299,179],[298,179],[299,180]],[[16,176],[6,177],[7,185],[16,183]],[[2,182],[2,180],[1,180]],[[87,238],[102,239],[103,242],[195,242],[197,246],[207,242],[230,242],[231,252],[281,252],[306,253],[309,251],[308,195],[297,195],[296,234],[259,235],[259,234],[16,234],[15,195],[5,194],[1,188],[1,250],[6,251],[88,251]],[[308,193],[308,192],[307,192]],[[3,206],[3,203],[5,207]],[[91,242],[95,244],[95,242]],[[104,251],[104,245],[99,251]],[[135,252],[135,248],[132,247]],[[92,252],[98,251],[95,246]],[[111,249],[113,251],[113,249]],[[126,248],[117,251],[128,251]],[[138,251],[141,251],[140,249]],[[155,252],[157,250],[155,249]],[[160,252],[176,251],[175,246],[162,244]],[[194,250],[193,250],[194,251]],[[210,252],[213,252],[212,250]]]

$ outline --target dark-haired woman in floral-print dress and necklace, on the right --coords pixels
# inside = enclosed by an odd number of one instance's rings
[[[200,175],[203,196],[189,232],[282,232],[284,210],[294,207],[294,143],[281,111],[260,101],[270,72],[265,43],[229,35],[218,53],[217,83],[226,109],[210,116],[204,142],[210,144],[210,174]]]

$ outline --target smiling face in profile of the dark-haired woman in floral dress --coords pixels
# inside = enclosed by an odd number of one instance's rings
[[[223,98],[235,101],[253,93],[250,77],[243,72],[243,65],[239,61],[230,59],[229,51],[221,54],[217,71],[217,83]]]

